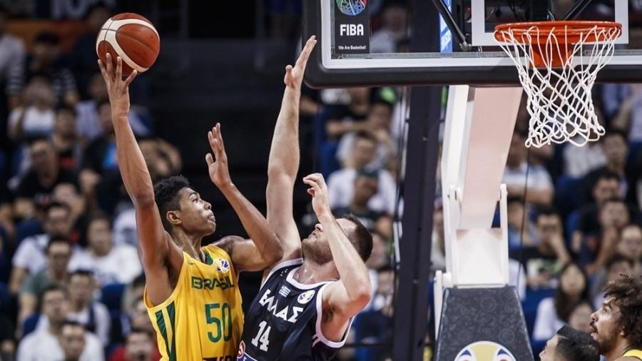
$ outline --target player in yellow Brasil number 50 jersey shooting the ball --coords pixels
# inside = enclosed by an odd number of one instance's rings
[[[107,83],[116,153],[123,183],[136,207],[138,255],[146,275],[145,302],[163,360],[231,361],[243,332],[238,273],[263,270],[282,257],[280,243],[261,213],[235,188],[220,136],[208,134],[215,157],[206,156],[210,178],[233,206],[252,240],[230,236],[216,245],[200,240],[216,228],[210,203],[182,176],[152,185],[128,123],[128,86],[108,55],[98,61]]]

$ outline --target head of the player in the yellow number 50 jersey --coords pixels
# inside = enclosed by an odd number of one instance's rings
[[[203,237],[216,230],[212,205],[200,198],[187,178],[173,176],[159,181],[154,185],[154,195],[168,233],[182,228],[185,233]]]

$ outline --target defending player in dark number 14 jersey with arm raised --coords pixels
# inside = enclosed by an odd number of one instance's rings
[[[319,224],[304,240],[292,218],[299,168],[298,116],[303,72],[316,40],[285,68],[285,93],[275,126],[267,183],[267,221],[284,256],[264,271],[245,315],[238,360],[330,360],[342,347],[352,317],[370,301],[365,260],[372,236],[355,218],[335,220],[320,174],[303,178]]]

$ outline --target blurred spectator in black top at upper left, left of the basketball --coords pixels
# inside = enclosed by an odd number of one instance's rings
[[[79,100],[76,78],[63,66],[60,53],[60,37],[56,33],[43,31],[36,35],[31,56],[26,59],[24,78],[31,81],[34,76],[46,76],[58,102],[76,106]]]

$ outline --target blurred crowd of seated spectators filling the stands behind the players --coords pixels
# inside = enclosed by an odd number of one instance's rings
[[[407,43],[407,9],[378,2],[372,49],[399,50]],[[290,3],[297,1],[272,1],[270,9]],[[110,14],[102,3],[86,9],[84,32],[63,51],[55,31],[33,39],[8,34],[11,13],[0,6],[1,360],[160,358],[93,49]],[[642,87],[594,90],[607,129],[600,141],[528,150],[522,109],[506,163],[511,284],[519,287],[535,354],[562,325],[588,330],[608,280],[642,275]],[[405,92],[305,88],[302,96],[302,126],[312,129],[330,205],[337,217],[356,215],[374,241],[367,263],[374,296],[350,341],[377,346],[345,347],[339,360],[391,359]],[[152,178],[180,173],[180,152],[154,136],[148,110],[135,92],[132,98],[130,121]],[[440,197],[438,190],[433,270],[445,268]]]

